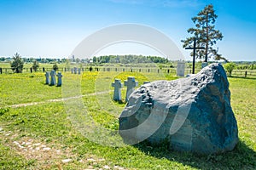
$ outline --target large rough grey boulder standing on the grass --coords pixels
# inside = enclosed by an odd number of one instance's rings
[[[190,77],[144,84],[119,116],[119,134],[127,144],[166,140],[174,150],[233,150],[238,130],[223,66],[212,64]]]

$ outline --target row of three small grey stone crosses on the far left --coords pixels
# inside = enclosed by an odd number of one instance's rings
[[[58,77],[58,82],[56,83],[56,77]],[[55,86],[57,84],[58,87],[61,87],[62,85],[62,75],[61,72],[58,72],[58,74],[55,73],[55,70],[52,71],[46,71],[45,72],[45,84],[49,84],[50,86]]]

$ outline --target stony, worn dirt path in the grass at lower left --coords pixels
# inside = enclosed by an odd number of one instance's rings
[[[0,138],[4,145],[14,150],[26,160],[35,160],[33,169],[65,169],[66,165],[83,167],[83,169],[116,169],[124,167],[109,166],[104,158],[86,155],[83,158],[73,153],[72,148],[54,142],[47,143],[31,137],[19,137],[18,132],[5,131],[0,127]]]

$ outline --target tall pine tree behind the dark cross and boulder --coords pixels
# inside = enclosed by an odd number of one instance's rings
[[[221,54],[218,54],[218,50],[214,48],[216,42],[223,38],[222,33],[215,29],[214,24],[217,17],[218,15],[215,14],[213,5],[207,5],[197,16],[192,18],[195,28],[189,28],[188,33],[193,36],[187,37],[187,39],[181,41],[183,42],[183,48],[192,47],[194,38],[196,38],[196,47],[205,47],[205,49],[196,50],[196,57],[198,59],[205,58],[205,62],[211,57],[214,57],[216,60],[224,59],[227,61],[227,59],[222,57]]]

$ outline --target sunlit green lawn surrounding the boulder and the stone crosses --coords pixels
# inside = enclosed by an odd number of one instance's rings
[[[173,151],[165,144],[108,143],[111,135],[115,141],[118,116],[125,107],[112,101],[111,82],[114,77],[124,82],[128,76],[136,77],[139,85],[177,78],[160,73],[63,73],[63,86],[55,87],[44,84],[44,73],[0,75],[0,169],[256,168],[256,78],[229,78],[239,127],[240,142],[235,150],[199,156]],[[122,96],[124,99],[125,87]],[[76,105],[81,108],[73,115],[70,110]],[[94,135],[92,126],[84,126],[88,120],[83,114],[113,133]]]

